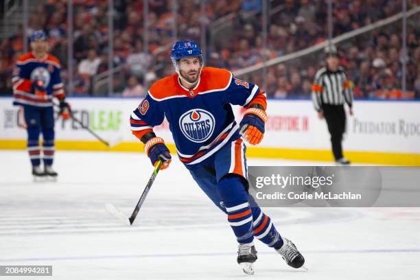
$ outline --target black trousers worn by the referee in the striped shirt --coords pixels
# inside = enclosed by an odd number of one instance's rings
[[[342,158],[342,135],[346,129],[346,114],[344,105],[323,104],[323,112],[331,135],[331,144],[336,161]]]

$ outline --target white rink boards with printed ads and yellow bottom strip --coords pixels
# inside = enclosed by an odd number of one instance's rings
[[[130,132],[130,113],[139,100],[127,98],[69,98],[74,116],[98,135],[122,142],[113,151],[139,151],[143,145]],[[240,120],[241,108],[235,108]],[[345,156],[355,163],[420,166],[420,102],[356,101],[354,116],[347,113]],[[331,161],[329,134],[310,100],[269,100],[266,135],[248,156]],[[0,148],[24,149],[18,107],[0,98]],[[175,152],[167,121],[154,129]],[[74,121],[56,123],[58,150],[109,150]]]

